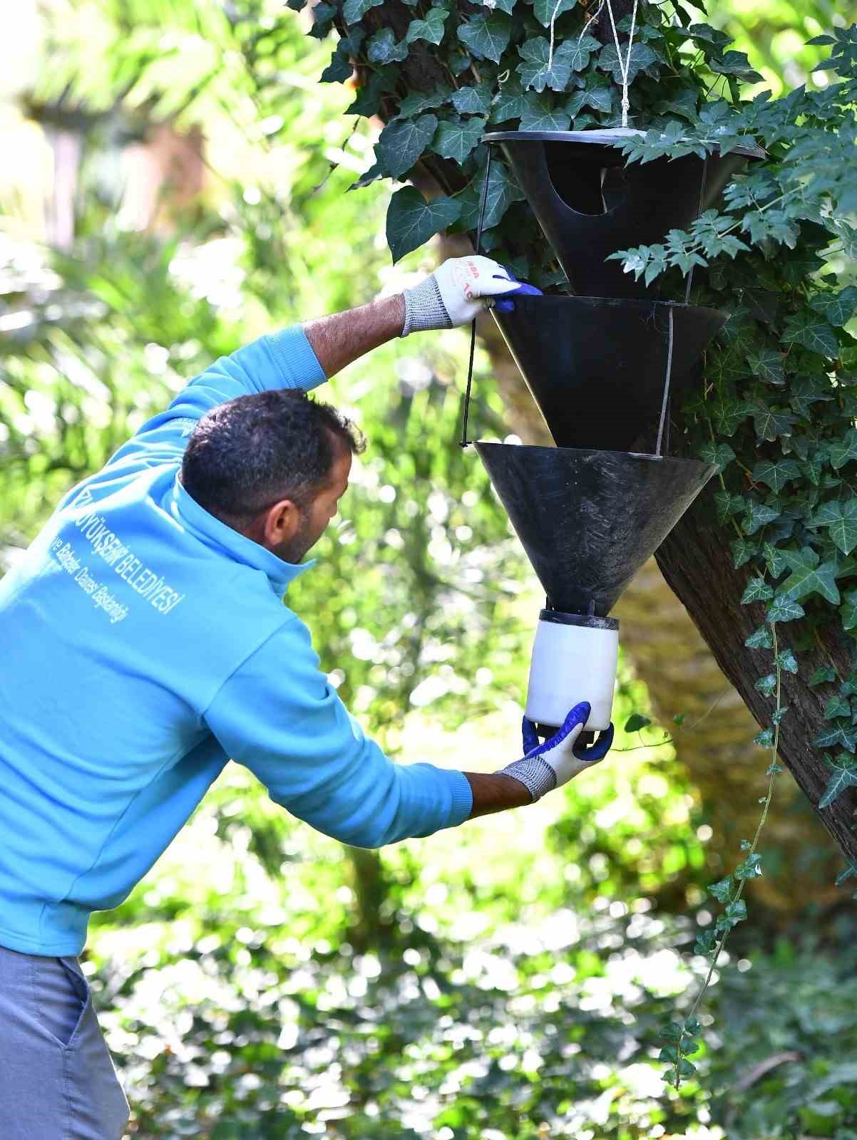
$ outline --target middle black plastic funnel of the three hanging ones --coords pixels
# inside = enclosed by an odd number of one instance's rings
[[[558,447],[656,450],[672,312],[670,391],[697,377],[727,314],[664,301],[526,296],[492,309]]]

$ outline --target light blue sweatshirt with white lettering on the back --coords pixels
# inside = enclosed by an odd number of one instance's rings
[[[204,511],[178,472],[209,408],[325,380],[300,328],[192,381],[75,487],[0,581],[0,945],[78,954],[227,758],[361,847],[456,826],[467,777],[397,765],[318,668],[283,562]]]

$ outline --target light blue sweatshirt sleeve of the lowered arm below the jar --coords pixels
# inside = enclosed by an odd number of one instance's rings
[[[294,616],[221,686],[205,720],[272,799],[356,847],[430,836],[458,826],[472,808],[463,773],[395,764],[363,734]]]

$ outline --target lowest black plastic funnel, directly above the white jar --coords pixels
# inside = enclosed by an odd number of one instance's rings
[[[476,443],[555,610],[606,617],[717,471],[695,459]]]

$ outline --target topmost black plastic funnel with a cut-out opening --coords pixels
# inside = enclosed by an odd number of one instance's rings
[[[660,295],[660,284],[636,282],[617,250],[652,245],[685,229],[719,196],[731,176],[765,150],[736,147],[706,158],[684,155],[625,165],[623,128],[591,131],[494,131],[483,141],[503,148],[529,206],[559,259],[572,293]]]

